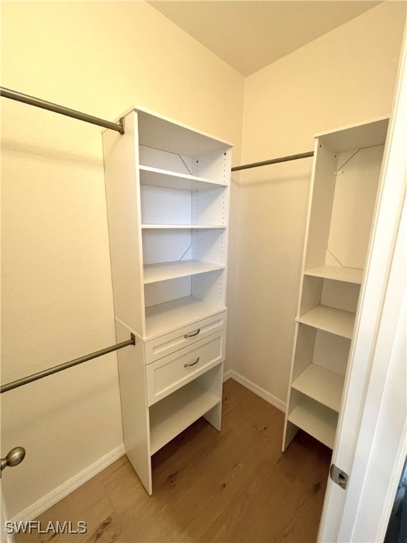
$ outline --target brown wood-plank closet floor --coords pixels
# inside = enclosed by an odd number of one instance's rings
[[[305,543],[317,538],[331,450],[301,431],[281,452],[284,414],[228,380],[222,431],[199,419],[153,456],[153,496],[126,457],[43,513],[85,536],[17,542]],[[71,518],[72,517],[72,518]]]

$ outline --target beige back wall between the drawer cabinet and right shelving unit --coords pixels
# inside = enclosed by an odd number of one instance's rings
[[[389,115],[405,4],[384,3],[246,78],[242,161],[312,151],[313,134]],[[285,402],[312,160],[242,173],[233,369]]]

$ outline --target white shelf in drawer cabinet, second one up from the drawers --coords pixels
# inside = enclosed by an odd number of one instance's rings
[[[161,262],[144,266],[144,284],[167,281],[177,277],[205,274],[208,271],[225,269],[223,264],[201,262],[201,260],[177,260],[176,262]]]

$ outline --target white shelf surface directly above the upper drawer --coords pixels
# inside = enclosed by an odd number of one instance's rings
[[[225,311],[223,303],[187,296],[146,308],[146,338],[154,339]]]

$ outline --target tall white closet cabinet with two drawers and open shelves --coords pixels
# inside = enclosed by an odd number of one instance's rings
[[[220,430],[231,144],[140,107],[103,133],[126,455],[151,456],[201,416]]]

